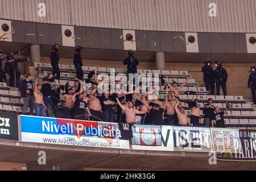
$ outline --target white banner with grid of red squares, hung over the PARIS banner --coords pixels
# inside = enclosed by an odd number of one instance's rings
[[[212,135],[213,152],[216,158],[238,154],[240,151],[240,137],[238,129],[210,128]]]

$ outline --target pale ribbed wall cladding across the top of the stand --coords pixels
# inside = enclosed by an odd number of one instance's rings
[[[45,3],[46,16],[39,16]],[[216,3],[215,17],[209,16]],[[256,32],[255,0],[0,0],[0,18],[184,32]]]

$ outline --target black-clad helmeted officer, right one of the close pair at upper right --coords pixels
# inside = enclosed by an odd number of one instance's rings
[[[226,69],[222,68],[222,63],[220,60],[216,61],[216,67],[217,68],[214,70],[214,81],[216,82],[217,96],[220,96],[220,87],[222,88],[224,96],[226,96],[226,82],[228,81],[228,73],[226,72]]]

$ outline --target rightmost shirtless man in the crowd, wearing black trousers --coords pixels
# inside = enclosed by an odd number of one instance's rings
[[[198,100],[194,99],[195,95],[192,98],[192,102],[189,102],[189,107],[191,107],[191,116],[190,116],[190,122],[192,126],[200,126],[200,108],[197,106]]]

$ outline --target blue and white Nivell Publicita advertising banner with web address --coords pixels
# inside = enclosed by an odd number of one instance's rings
[[[129,149],[117,123],[20,116],[22,142]]]

